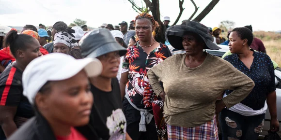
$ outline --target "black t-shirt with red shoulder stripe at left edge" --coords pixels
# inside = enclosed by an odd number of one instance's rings
[[[0,106],[17,107],[14,118],[17,127],[34,116],[31,104],[22,93],[22,71],[10,64],[0,75]],[[0,140],[4,140],[4,136],[0,127]]]

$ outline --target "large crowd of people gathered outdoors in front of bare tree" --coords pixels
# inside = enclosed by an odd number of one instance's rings
[[[278,65],[251,26],[226,40],[169,23],[142,13],[91,31],[59,21],[0,33],[0,140],[257,140],[267,108],[279,131]],[[222,58],[205,51],[217,44],[230,48]]]

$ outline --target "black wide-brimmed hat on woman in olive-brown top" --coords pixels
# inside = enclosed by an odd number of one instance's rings
[[[193,32],[198,34],[206,44],[206,48],[211,50],[221,49],[217,44],[213,43],[214,37],[209,34],[209,28],[201,23],[188,21],[185,25],[174,25],[166,30],[166,40],[170,42],[172,47],[178,50],[184,49],[183,47],[183,36],[187,32]]]

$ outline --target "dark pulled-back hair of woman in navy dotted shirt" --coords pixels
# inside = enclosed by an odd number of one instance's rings
[[[232,30],[232,32],[236,32],[237,36],[241,39],[241,40],[245,40],[247,39],[248,42],[247,44],[250,46],[251,43],[253,42],[254,36],[252,31],[249,28],[245,28],[245,27],[240,27],[240,28],[234,28]]]

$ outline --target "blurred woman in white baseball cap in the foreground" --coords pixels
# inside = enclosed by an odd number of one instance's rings
[[[98,140],[89,125],[93,95],[88,78],[101,71],[94,58],[76,60],[53,53],[34,59],[22,83],[36,116],[8,140]]]

